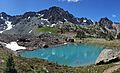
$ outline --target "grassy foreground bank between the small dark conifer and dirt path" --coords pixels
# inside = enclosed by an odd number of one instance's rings
[[[86,67],[67,67],[50,63],[46,60],[14,57],[18,73],[102,73],[114,64],[91,65]]]

